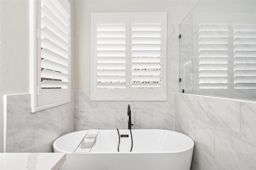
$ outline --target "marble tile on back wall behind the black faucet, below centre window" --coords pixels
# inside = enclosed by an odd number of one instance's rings
[[[130,104],[134,129],[174,129],[175,109],[166,102],[91,101],[90,91],[75,91],[75,131],[127,129]]]

